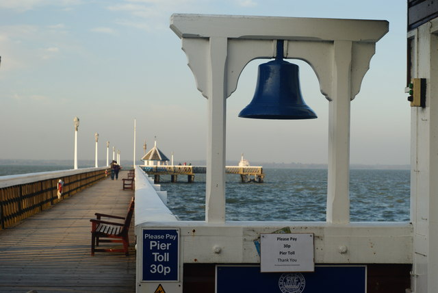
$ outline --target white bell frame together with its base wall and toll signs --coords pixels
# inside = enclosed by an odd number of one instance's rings
[[[145,191],[153,188],[136,190],[137,292],[409,289],[412,225],[350,222],[350,102],[387,21],[173,14],[170,28],[208,99],[205,221],[178,221],[159,203],[142,203],[153,201]],[[225,220],[227,97],[248,62],[276,57],[277,40],[283,40],[284,58],[310,64],[330,105],[325,222]]]

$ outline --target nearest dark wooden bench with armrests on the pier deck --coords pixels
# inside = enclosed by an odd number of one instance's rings
[[[134,198],[129,203],[128,214],[126,217],[113,216],[107,214],[96,213],[96,218],[91,219],[91,255],[94,256],[95,251],[107,252],[124,252],[129,255],[129,226],[134,212]],[[124,220],[123,222],[110,222],[101,220],[102,217]],[[96,249],[100,242],[119,242],[123,243],[123,249]]]

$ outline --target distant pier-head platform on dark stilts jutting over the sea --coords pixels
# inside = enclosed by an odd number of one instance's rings
[[[170,175],[170,181],[177,182],[178,175],[187,175],[188,182],[194,182],[195,174],[205,174],[205,166],[140,166],[145,173],[154,176],[155,183],[159,183],[160,175]],[[240,175],[242,182],[263,182],[265,175],[261,166],[226,166],[225,173]]]

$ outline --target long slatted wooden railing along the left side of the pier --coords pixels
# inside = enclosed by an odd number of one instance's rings
[[[64,181],[62,197],[72,196],[101,179],[107,167],[83,168],[53,172],[31,173],[0,177],[1,229],[32,216],[60,201],[57,182]]]

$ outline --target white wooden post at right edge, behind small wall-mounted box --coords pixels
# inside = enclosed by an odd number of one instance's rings
[[[426,79],[426,107],[411,108],[412,290],[438,292],[438,19],[408,38],[411,76]],[[409,103],[407,102],[407,107]]]

